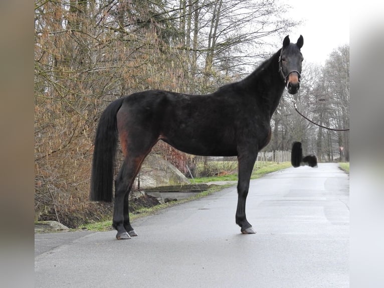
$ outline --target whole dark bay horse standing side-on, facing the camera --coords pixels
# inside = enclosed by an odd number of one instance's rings
[[[300,87],[303,37],[283,47],[245,79],[208,95],[161,90],[133,93],[104,110],[96,131],[90,200],[112,201],[117,141],[124,162],[115,180],[113,227],[117,239],[137,236],[129,222],[128,194],[141,164],[158,140],[201,156],[237,156],[236,223],[244,234],[256,233],[245,206],[258,152],[271,139],[270,121],[284,88]]]

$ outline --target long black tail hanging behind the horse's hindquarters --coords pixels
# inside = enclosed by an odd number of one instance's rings
[[[91,201],[112,202],[113,172],[118,140],[116,114],[124,98],[110,103],[101,114],[93,150]]]

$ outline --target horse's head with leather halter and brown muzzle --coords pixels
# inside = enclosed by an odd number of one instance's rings
[[[286,36],[283,41],[279,57],[279,72],[284,79],[288,93],[296,94],[300,89],[300,73],[303,55],[300,52],[303,47],[303,36],[300,35],[296,44],[290,43]]]

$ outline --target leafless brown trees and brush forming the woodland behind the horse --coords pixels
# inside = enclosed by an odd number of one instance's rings
[[[268,0],[36,0],[36,219],[110,210],[88,202],[95,127],[108,103],[147,89],[207,94],[244,78],[299,24],[289,9]],[[349,46],[324,65],[304,60],[294,97],[319,124],[349,127]],[[349,133],[305,121],[286,93],[271,124],[264,151],[301,141],[319,161],[349,161]],[[194,160],[163,142],[152,153],[184,174]]]

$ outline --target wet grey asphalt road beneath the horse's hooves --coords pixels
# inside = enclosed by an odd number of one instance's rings
[[[137,219],[139,234],[35,235],[35,287],[349,287],[349,178],[337,164],[252,180],[235,224],[236,187]]]

